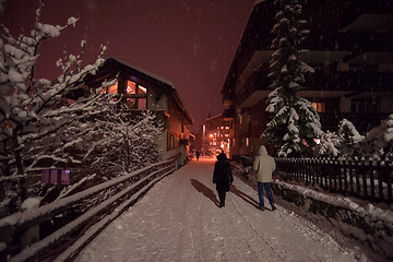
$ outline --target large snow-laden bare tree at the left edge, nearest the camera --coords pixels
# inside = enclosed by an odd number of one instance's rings
[[[69,143],[63,143],[58,140],[57,133],[87,115],[103,111],[99,102],[102,94],[92,94],[72,103],[68,95],[80,87],[85,75],[96,72],[104,61],[105,46],[102,46],[102,51],[93,64],[82,66],[86,45],[86,40],[83,39],[80,55],[68,55],[64,50],[63,58],[57,61],[56,66],[61,70],[57,80],[35,79],[35,66],[43,41],[58,37],[67,27],[75,26],[78,21],[70,17],[64,26],[40,23],[41,8],[43,2],[39,2],[34,28],[29,35],[22,33],[14,37],[8,28],[1,27],[0,155],[4,164],[2,176],[19,179],[19,196],[22,200],[27,196],[26,176],[39,160],[76,160],[71,155],[62,154],[70,143],[74,143],[72,139],[69,138]]]

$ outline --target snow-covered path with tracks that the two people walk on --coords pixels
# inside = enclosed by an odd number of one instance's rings
[[[218,209],[213,166],[201,158],[160,180],[76,261],[367,261],[282,206],[257,210],[237,177]]]

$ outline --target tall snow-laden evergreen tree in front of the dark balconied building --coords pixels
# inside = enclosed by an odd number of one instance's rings
[[[312,68],[299,59],[298,45],[309,31],[301,29],[306,21],[300,20],[301,5],[298,0],[275,0],[278,12],[272,34],[271,48],[275,50],[270,62],[273,80],[266,111],[273,115],[263,136],[278,148],[279,156],[311,155],[314,139],[322,133],[317,110],[306,98],[299,97],[303,88],[305,73]]]

